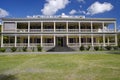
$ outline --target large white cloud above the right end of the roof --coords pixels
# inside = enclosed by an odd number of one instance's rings
[[[113,5],[108,2],[100,3],[95,2],[87,9],[87,15],[94,15],[99,13],[104,13],[113,9]]]

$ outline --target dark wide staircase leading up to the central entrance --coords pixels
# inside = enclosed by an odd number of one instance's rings
[[[48,50],[47,52],[70,52],[70,51],[74,51],[74,50],[67,46],[65,46],[65,47],[56,46],[56,47]]]

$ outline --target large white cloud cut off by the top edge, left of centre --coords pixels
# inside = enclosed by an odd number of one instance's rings
[[[58,10],[64,9],[69,0],[46,0],[44,8],[41,10],[44,15],[54,15]]]

